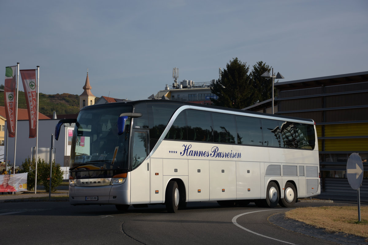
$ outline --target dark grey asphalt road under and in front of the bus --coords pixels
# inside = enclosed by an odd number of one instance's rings
[[[297,203],[326,205],[326,203]],[[339,205],[336,203],[327,205]],[[0,203],[1,244],[336,244],[286,230],[268,218],[284,208],[223,208],[189,203],[167,213],[163,205],[71,206],[68,202]]]

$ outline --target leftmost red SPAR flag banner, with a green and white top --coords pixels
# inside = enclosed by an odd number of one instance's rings
[[[7,66],[4,83],[4,105],[9,137],[15,137],[15,110],[17,109],[17,103],[15,101],[16,87],[17,66]]]

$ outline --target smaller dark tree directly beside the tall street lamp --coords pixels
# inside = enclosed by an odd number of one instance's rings
[[[265,72],[271,73],[271,68],[269,65],[266,65],[266,62],[258,61],[254,66],[253,70],[250,73],[251,84],[255,88],[255,102],[262,102],[268,100],[272,97],[272,82],[271,78],[261,76]],[[276,90],[274,91],[274,96],[276,96]]]

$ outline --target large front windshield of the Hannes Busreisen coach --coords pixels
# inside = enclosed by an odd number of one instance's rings
[[[131,105],[86,108],[79,112],[71,143],[70,174],[74,179],[111,178],[128,172],[130,122],[118,135],[117,122]]]

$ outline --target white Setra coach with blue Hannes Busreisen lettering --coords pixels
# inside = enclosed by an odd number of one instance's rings
[[[71,205],[292,206],[320,194],[313,120],[142,100],[84,107],[75,122]]]

